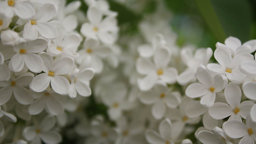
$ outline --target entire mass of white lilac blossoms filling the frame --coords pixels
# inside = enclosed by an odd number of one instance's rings
[[[133,35],[84,2],[0,0],[0,143],[255,143],[256,40],[217,42],[209,64],[211,48],[176,45],[161,2]]]

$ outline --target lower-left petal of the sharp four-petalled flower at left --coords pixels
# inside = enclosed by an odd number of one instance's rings
[[[35,78],[30,83],[29,87],[31,90],[35,92],[42,92],[48,87],[50,80],[51,79],[48,76],[48,74],[42,73],[35,76]]]

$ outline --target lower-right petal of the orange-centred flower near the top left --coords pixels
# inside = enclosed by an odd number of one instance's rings
[[[48,23],[37,23],[37,31],[47,39],[56,39],[58,31],[56,28]]]

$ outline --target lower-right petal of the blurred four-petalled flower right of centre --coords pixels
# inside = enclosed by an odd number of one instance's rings
[[[176,82],[177,76],[178,76],[178,71],[176,68],[167,68],[164,69],[164,73],[160,75],[160,79],[165,81],[166,83],[173,84]]]

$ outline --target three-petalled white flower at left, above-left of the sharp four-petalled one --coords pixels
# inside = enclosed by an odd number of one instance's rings
[[[42,52],[46,49],[47,42],[43,39],[37,39],[30,42],[22,42],[14,47],[14,54],[9,62],[9,68],[12,71],[21,71],[24,63],[27,68],[34,72],[40,73],[44,66],[42,58],[34,53]]]

